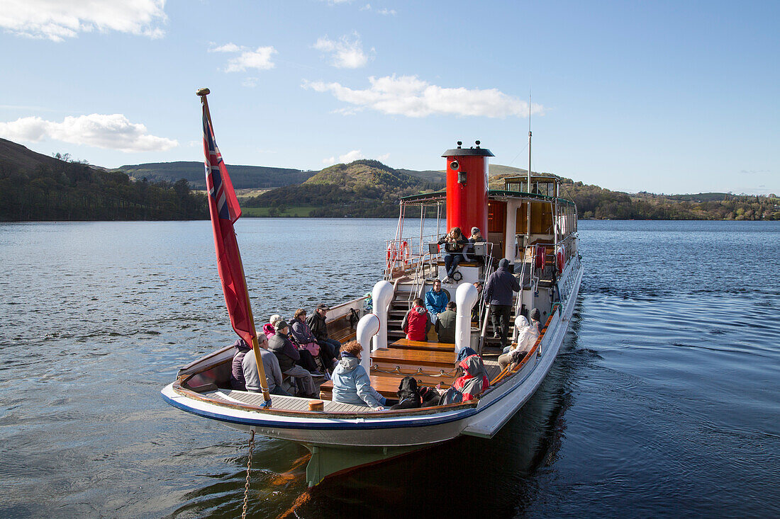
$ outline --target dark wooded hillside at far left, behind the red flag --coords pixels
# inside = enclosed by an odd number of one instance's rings
[[[186,180],[133,182],[120,171],[58,157],[0,139],[0,221],[208,217],[206,197],[190,192]]]

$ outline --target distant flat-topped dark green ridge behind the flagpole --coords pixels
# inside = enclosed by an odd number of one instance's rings
[[[193,189],[206,189],[203,162],[150,162],[116,168],[137,180],[176,182],[180,178],[190,182]],[[316,171],[266,166],[236,166],[228,164],[228,172],[236,189],[264,189],[306,182]]]

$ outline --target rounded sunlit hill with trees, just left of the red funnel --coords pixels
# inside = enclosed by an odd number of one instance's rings
[[[379,161],[335,164],[319,171],[301,185],[272,189],[246,199],[244,207],[260,208],[249,214],[292,214],[317,217],[392,217],[398,214],[398,199],[441,188]],[[294,208],[294,210],[293,210]]]

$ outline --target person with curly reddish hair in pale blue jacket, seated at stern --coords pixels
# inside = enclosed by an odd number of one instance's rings
[[[340,349],[341,360],[333,370],[333,401],[367,405],[374,411],[384,410],[388,399],[371,387],[371,379],[366,369],[360,365],[360,351],[363,346],[358,341],[349,341]]]

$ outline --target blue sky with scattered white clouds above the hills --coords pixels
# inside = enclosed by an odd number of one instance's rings
[[[115,168],[495,164],[780,194],[780,2],[0,0],[0,137]]]

